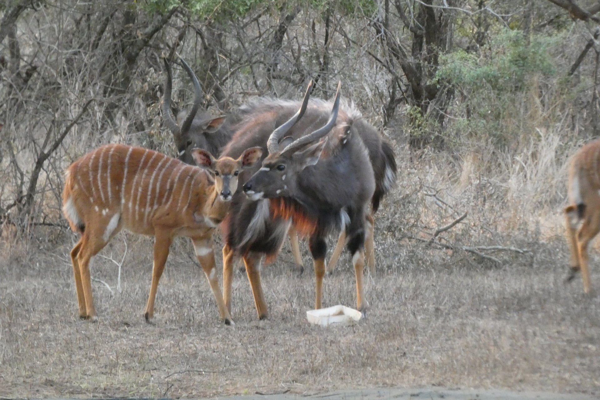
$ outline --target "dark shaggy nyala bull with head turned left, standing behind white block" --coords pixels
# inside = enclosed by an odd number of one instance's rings
[[[227,309],[230,309],[233,261],[241,256],[257,314],[261,319],[268,315],[260,282],[260,260],[266,255],[268,263],[276,257],[290,223],[309,237],[316,275],[315,308],[321,308],[322,303],[325,238],[331,231],[344,228],[344,242],[352,254],[356,273],[357,307],[361,311],[367,307],[362,288],[364,243],[367,231],[372,232],[368,209],[377,184],[367,146],[359,132],[363,126],[358,123],[361,115],[353,107],[340,110],[339,87],[333,102],[309,102],[309,95],[310,85],[301,104],[282,101],[255,104],[253,119],[236,132],[223,151],[223,155],[235,157],[250,143],[253,146],[266,143],[269,152],[262,167],[246,181],[246,196],[234,197],[222,224],[226,240],[223,294]],[[269,125],[278,128],[269,130]],[[390,154],[393,160],[391,151]],[[386,160],[383,154],[380,158]],[[390,171],[387,176],[392,179],[395,163],[393,169],[392,173],[388,164],[382,169],[383,175]],[[253,170],[245,172],[241,181]]]

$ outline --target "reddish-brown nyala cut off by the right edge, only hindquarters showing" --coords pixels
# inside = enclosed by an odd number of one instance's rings
[[[587,246],[600,231],[600,140],[583,146],[572,158],[568,194],[571,204],[565,208],[565,217],[571,269],[566,281],[581,271],[583,291],[590,293]]]

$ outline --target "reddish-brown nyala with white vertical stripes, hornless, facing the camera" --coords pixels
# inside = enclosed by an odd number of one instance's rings
[[[202,149],[194,149],[191,155],[200,168],[149,149],[113,144],[89,152],[68,167],[62,210],[71,228],[82,234],[71,250],[81,318],[97,320],[89,260],[125,228],[154,236],[146,321],[154,317],[158,281],[173,238],[187,236],[221,319],[233,322],[218,284],[212,233],[229,209],[239,173],[260,160],[262,149],[248,148],[238,158],[218,160]]]

